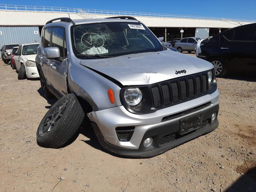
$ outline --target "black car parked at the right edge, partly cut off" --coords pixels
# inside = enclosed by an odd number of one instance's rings
[[[198,57],[211,62],[216,77],[228,70],[256,72],[256,23],[226,30],[201,45]]]

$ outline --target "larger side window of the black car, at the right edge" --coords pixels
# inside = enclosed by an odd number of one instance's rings
[[[234,41],[253,41],[255,37],[256,27],[246,27],[238,29],[234,34]]]

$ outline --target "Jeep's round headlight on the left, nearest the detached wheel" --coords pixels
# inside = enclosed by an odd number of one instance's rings
[[[128,88],[124,91],[124,100],[130,106],[138,105],[142,100],[142,93],[139,88]]]

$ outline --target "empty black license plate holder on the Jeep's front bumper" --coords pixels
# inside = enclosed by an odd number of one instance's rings
[[[179,134],[183,135],[193,130],[196,130],[202,126],[203,114],[199,114],[180,121]]]

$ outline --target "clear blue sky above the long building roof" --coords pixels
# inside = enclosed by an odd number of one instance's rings
[[[6,3],[6,1],[0,1]],[[256,20],[256,0],[12,0],[8,4],[187,14]]]

